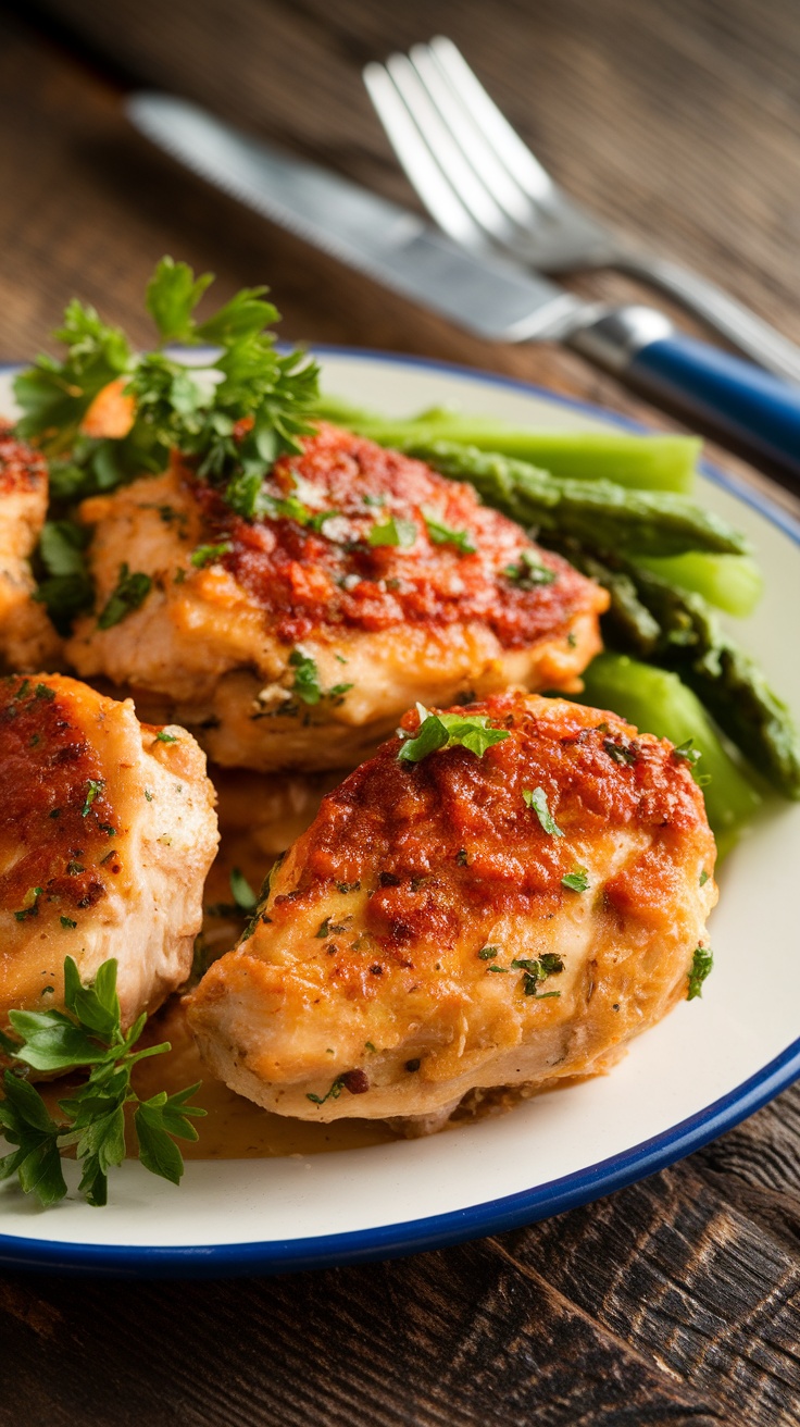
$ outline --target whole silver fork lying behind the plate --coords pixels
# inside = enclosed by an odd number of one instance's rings
[[[452,40],[368,64],[364,81],[422,203],[475,253],[543,273],[613,267],[655,284],[753,361],[800,381],[800,348],[713,283],[632,247],[576,204],[522,143]]]

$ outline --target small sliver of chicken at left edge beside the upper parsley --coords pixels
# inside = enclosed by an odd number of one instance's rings
[[[47,462],[0,425],[0,666],[51,668],[61,641],[33,599],[30,557],[47,512]]]

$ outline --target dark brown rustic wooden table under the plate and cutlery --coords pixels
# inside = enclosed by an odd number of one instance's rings
[[[800,340],[790,0],[20,0],[0,6],[0,357],[44,344],[76,293],[147,342],[143,285],[170,251],[225,295],[268,280],[291,338],[640,410],[572,355],[482,345],[299,247],[121,117],[125,86],[163,86],[408,203],[359,67],[438,30],[578,197]],[[217,1283],[6,1274],[0,1423],[796,1423],[799,1152],[789,1090],[645,1183],[441,1253]]]

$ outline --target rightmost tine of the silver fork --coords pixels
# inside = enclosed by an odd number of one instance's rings
[[[513,223],[532,227],[538,221],[536,203],[508,171],[502,154],[498,154],[486,140],[461,90],[453,87],[446,70],[442,68],[436,53],[428,44],[415,44],[409,53],[422,84],[478,177]]]

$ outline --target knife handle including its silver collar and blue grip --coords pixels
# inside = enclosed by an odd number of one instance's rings
[[[714,425],[800,479],[800,387],[684,337],[655,308],[612,308],[570,345],[656,404]]]

